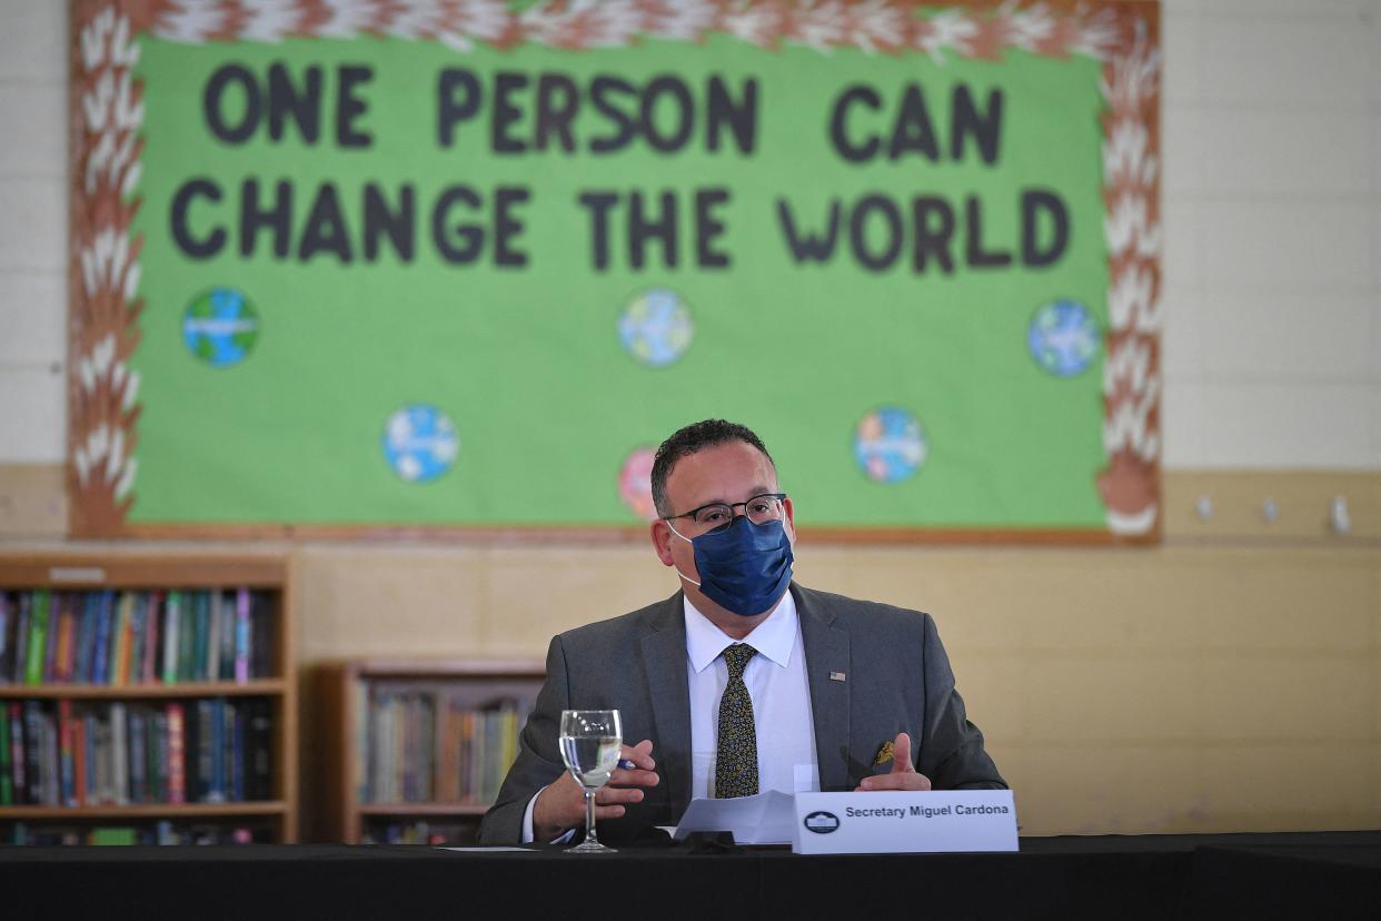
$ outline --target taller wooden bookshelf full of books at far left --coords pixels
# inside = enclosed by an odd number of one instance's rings
[[[282,555],[0,551],[0,844],[297,841]]]

